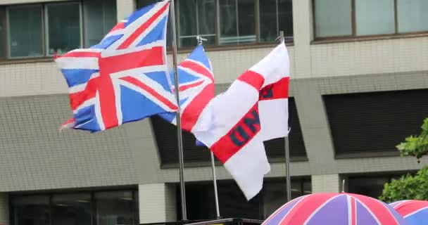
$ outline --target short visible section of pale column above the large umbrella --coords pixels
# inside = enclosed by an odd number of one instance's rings
[[[312,175],[312,193],[341,192],[339,174]]]

